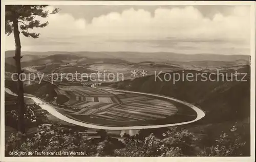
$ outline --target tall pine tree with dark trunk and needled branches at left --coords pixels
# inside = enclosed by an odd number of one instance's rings
[[[45,11],[44,9],[48,5],[7,5],[5,10],[5,33],[9,36],[11,33],[15,39],[15,56],[13,59],[16,64],[16,72],[18,76],[22,73],[20,66],[20,51],[22,46],[20,45],[19,34],[20,31],[25,37],[38,38],[39,33],[31,33],[30,29],[33,28],[44,28],[48,25],[48,21],[40,23],[36,20],[36,17],[40,16],[46,18],[49,14],[56,14],[59,9],[55,8],[52,12]],[[26,132],[24,114],[25,114],[25,103],[24,103],[24,89],[22,79],[17,81],[18,90],[18,130],[22,133]]]

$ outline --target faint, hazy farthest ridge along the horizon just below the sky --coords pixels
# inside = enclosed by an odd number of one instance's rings
[[[5,57],[14,56],[15,51],[9,50],[5,52]],[[131,62],[141,62],[142,61],[236,61],[236,60],[250,60],[249,55],[219,55],[210,53],[199,53],[193,55],[187,55],[183,53],[174,52],[130,52],[130,51],[120,51],[120,52],[92,52],[92,51],[47,51],[47,52],[37,52],[37,51],[22,51],[22,56],[32,55],[32,56],[50,56],[50,55],[71,55],[77,57],[87,57],[90,59],[95,58],[109,58],[109,59],[122,59]]]

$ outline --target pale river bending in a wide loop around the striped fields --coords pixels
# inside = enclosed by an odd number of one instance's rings
[[[161,128],[161,127],[170,127],[170,126],[178,126],[178,125],[184,125],[184,124],[189,124],[189,123],[193,123],[195,121],[198,121],[200,119],[202,119],[205,114],[202,110],[200,110],[198,107],[196,107],[195,105],[192,105],[190,103],[172,98],[172,97],[167,97],[167,96],[161,96],[161,95],[157,95],[157,94],[150,94],[150,93],[142,93],[142,92],[133,92],[133,91],[124,91],[124,90],[112,90],[112,89],[105,89],[105,88],[98,88],[95,87],[95,85],[92,85],[93,88],[97,88],[97,89],[102,89],[102,90],[108,90],[108,91],[119,91],[119,92],[128,92],[128,93],[137,93],[137,94],[143,94],[143,95],[150,95],[150,96],[156,96],[156,97],[162,97],[165,99],[169,99],[169,100],[173,100],[176,102],[180,102],[183,103],[189,107],[191,107],[191,109],[193,109],[196,113],[197,113],[197,118],[191,121],[186,121],[186,122],[181,122],[181,123],[174,123],[174,124],[163,124],[163,125],[145,125],[145,126],[101,126],[101,125],[94,125],[94,124],[88,124],[88,123],[83,123],[80,121],[76,121],[74,119],[70,119],[65,115],[62,115],[61,113],[59,113],[53,105],[51,104],[41,104],[40,107],[46,111],[48,111],[50,114],[52,114],[53,116],[55,116],[56,118],[59,118],[63,121],[66,121],[68,123],[71,124],[75,124],[75,125],[79,125],[79,126],[83,126],[83,127],[87,127],[87,128],[94,128],[94,129],[105,129],[105,130],[137,130],[137,129],[150,129],[150,128]],[[5,92],[10,94],[10,95],[16,95],[14,94],[11,90],[9,90],[8,88],[5,88]],[[33,97],[33,96],[26,96],[27,98],[31,98],[35,103],[42,103],[44,101],[42,101],[41,99],[39,99],[38,97]]]

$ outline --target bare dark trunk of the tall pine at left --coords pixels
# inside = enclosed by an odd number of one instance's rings
[[[14,18],[13,20],[13,34],[14,34],[14,39],[15,39],[15,56],[13,59],[15,60],[16,64],[16,72],[17,72],[17,77],[20,76],[20,74],[23,72],[22,68],[20,66],[20,49],[22,46],[20,46],[20,39],[19,39],[19,30],[18,30],[18,20]],[[24,89],[23,89],[23,82],[22,78],[20,77],[17,78],[17,91],[18,91],[18,131],[25,133],[25,119],[24,119],[24,114],[25,114],[25,103],[24,103]]]

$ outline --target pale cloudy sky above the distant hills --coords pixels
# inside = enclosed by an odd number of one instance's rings
[[[49,6],[23,51],[138,51],[250,55],[249,6]],[[6,50],[14,50],[6,36]]]

